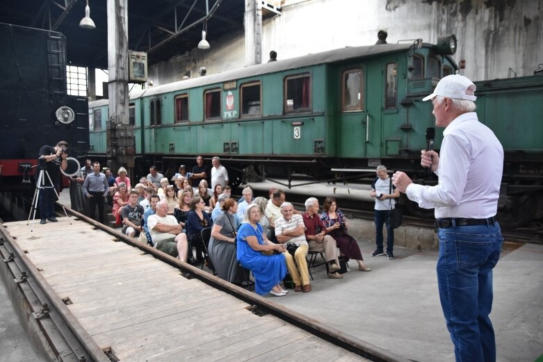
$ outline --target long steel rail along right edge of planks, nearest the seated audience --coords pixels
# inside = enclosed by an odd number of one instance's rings
[[[205,272],[204,270],[200,270],[199,268],[196,268],[193,265],[184,263],[177,258],[174,258],[168,254],[165,254],[155,249],[154,247],[150,247],[149,245],[145,245],[141,242],[138,242],[136,239],[130,238],[129,236],[126,236],[123,233],[120,233],[119,231],[112,229],[111,227],[107,227],[104,224],[100,224],[99,222],[90,219],[86,215],[83,215],[81,213],[78,213],[72,210],[71,208],[65,207],[65,209],[68,213],[87,222],[88,224],[92,224],[98,229],[101,229],[102,231],[105,231],[106,233],[109,233],[117,237],[119,241],[125,242],[126,244],[131,245],[133,247],[137,247],[138,249],[144,252],[147,252],[148,254],[151,254],[152,256],[159,259],[160,261],[163,261],[164,263],[168,263],[168,265],[171,265],[172,267],[181,270],[181,274],[184,277],[186,278],[195,277],[199,279],[200,281],[203,281],[204,283],[208,284],[209,286],[212,286],[213,288],[217,288],[219,290],[224,291],[225,293],[228,293],[238,299],[243,300],[243,302],[246,302],[252,305],[253,308],[256,306],[258,311],[264,311],[265,313],[275,315],[275,317],[280,318],[286,322],[289,322],[305,331],[308,331],[309,333],[314,334],[315,336],[318,336],[319,338],[323,338],[324,340],[327,340],[328,342],[334,345],[342,347],[355,354],[359,354],[359,356],[363,356],[364,358],[370,359],[371,361],[410,362],[409,359],[405,359],[401,356],[397,356],[396,354],[385,351],[384,349],[381,349],[380,347],[372,345],[371,343],[367,343],[364,340],[360,340],[358,338],[350,336],[349,334],[343,333],[342,331],[339,331],[338,329],[334,329],[330,326],[327,326],[326,324],[318,322],[318,320],[309,318],[307,317],[307,315],[303,315],[302,313],[292,311],[291,309],[286,308],[285,306],[272,302],[266,298],[260,297],[257,294],[248,292],[247,290],[241,287],[238,287],[232,283],[224,281],[220,279],[219,277],[215,277],[213,274],[210,274],[209,272]]]

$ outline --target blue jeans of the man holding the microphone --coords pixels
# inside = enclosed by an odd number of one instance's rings
[[[496,361],[492,268],[500,258],[500,226],[439,229],[437,284],[456,361]]]

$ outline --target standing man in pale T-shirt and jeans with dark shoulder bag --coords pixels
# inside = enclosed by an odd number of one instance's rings
[[[394,259],[394,229],[390,224],[389,213],[396,205],[396,198],[400,197],[400,191],[392,185],[387,167],[379,165],[377,167],[377,177],[371,184],[371,197],[375,198],[375,243],[377,249],[371,256],[384,255],[383,253],[383,224],[387,224],[387,256],[390,260]]]

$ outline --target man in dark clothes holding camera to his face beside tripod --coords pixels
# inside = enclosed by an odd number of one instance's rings
[[[42,182],[38,187],[43,187],[40,189],[40,224],[45,224],[47,220],[51,222],[57,222],[56,217],[54,217],[55,210],[55,201],[56,201],[56,192],[53,188],[58,190],[60,183],[60,174],[58,172],[58,167],[60,169],[66,170],[68,143],[66,141],[58,141],[56,146],[42,146],[38,154],[38,161],[40,162],[40,171],[45,171],[42,175]],[[46,173],[47,172],[47,173]],[[49,174],[49,177],[47,177]],[[52,183],[52,184],[51,184]]]

